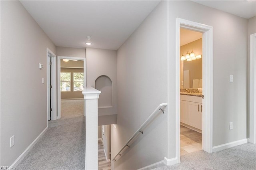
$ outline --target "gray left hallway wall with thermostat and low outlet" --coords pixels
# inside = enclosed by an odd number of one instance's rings
[[[22,4],[1,1],[1,166],[14,163],[47,127],[46,47],[56,53]]]

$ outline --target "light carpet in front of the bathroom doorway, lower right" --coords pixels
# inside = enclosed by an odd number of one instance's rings
[[[255,144],[242,144],[209,154],[203,150],[180,157],[180,163],[154,170],[256,170]]]

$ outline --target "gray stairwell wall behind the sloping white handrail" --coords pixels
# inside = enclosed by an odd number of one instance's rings
[[[166,5],[166,1],[160,2],[118,49],[118,117],[116,128],[111,127],[112,158],[156,107],[167,102]],[[129,151],[112,161],[112,166],[138,169],[163,160],[167,153],[167,115],[159,113]]]

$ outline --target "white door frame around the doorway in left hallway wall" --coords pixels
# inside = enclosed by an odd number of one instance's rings
[[[50,72],[50,56],[48,53],[52,55],[52,72]],[[51,120],[56,120],[56,113],[57,113],[57,81],[56,81],[56,55],[49,49],[46,49],[46,57],[47,57],[47,127],[48,127],[48,120],[49,120],[49,113],[50,113],[50,74],[52,77],[52,115]]]

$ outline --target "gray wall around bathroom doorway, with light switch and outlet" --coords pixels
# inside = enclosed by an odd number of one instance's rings
[[[169,85],[168,104],[171,129],[176,129],[176,18],[213,26],[213,146],[247,138],[246,62],[248,20],[191,1],[168,1]],[[186,12],[184,12],[186,11]],[[197,11],[197,12],[195,12]],[[239,50],[238,50],[239,49]],[[173,67],[174,66],[174,67]],[[229,75],[234,82],[229,82]],[[221,100],[220,100],[221,99]],[[233,130],[228,124],[233,122]],[[176,139],[174,138],[174,141]],[[175,157],[175,142],[170,140],[169,157]],[[173,151],[171,153],[171,151]]]

